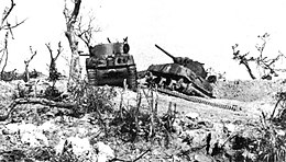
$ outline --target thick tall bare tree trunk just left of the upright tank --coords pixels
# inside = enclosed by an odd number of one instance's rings
[[[74,0],[74,9],[70,11],[67,9],[67,4],[65,4],[64,15],[66,19],[66,32],[65,35],[68,39],[69,47],[72,50],[72,59],[69,66],[69,77],[68,84],[73,84],[73,82],[77,82],[81,76],[81,67],[79,63],[79,53],[78,53],[78,40],[75,25],[78,21],[78,13],[81,4],[81,0]]]

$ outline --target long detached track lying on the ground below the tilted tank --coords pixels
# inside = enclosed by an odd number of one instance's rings
[[[223,108],[223,109],[229,109],[229,111],[242,111],[242,107],[238,106],[238,105],[228,105],[228,104],[221,104],[221,103],[216,103],[213,101],[207,100],[207,99],[202,99],[202,97],[198,97],[198,96],[190,96],[190,95],[186,95],[176,91],[170,91],[170,90],[166,90],[166,89],[157,89],[158,92],[164,93],[164,94],[168,94],[175,97],[179,97],[179,99],[184,99],[194,103],[199,103],[199,104],[205,104],[205,105],[209,105],[209,106],[213,106],[213,107],[219,107],[219,108]]]

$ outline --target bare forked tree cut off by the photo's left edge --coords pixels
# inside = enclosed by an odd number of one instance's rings
[[[2,66],[2,70],[1,70],[1,79],[3,77],[3,72],[4,72],[4,69],[7,67],[7,62],[8,62],[8,56],[9,56],[9,51],[8,51],[8,43],[9,43],[9,36],[11,35],[12,38],[14,38],[13,36],[13,32],[12,30],[18,27],[19,25],[23,24],[25,22],[25,20],[21,21],[21,22],[15,22],[13,24],[9,23],[9,16],[11,15],[14,7],[15,7],[15,3],[14,3],[14,0],[10,0],[10,7],[7,7],[4,9],[4,11],[2,12],[2,19],[1,19],[1,22],[0,22],[0,34],[2,32],[4,32],[4,38],[3,38],[3,45],[2,47],[0,47],[0,53],[2,54],[1,55],[1,58],[0,58],[0,63],[3,62],[3,66]],[[4,60],[3,60],[4,58]]]

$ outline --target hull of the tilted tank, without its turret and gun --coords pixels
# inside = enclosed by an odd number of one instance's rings
[[[197,76],[193,70],[178,63],[152,65],[147,82],[164,89],[197,95],[202,97],[213,97],[210,83]]]

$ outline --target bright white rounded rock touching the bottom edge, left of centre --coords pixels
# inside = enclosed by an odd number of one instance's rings
[[[107,162],[114,158],[114,151],[101,141],[96,143],[96,149],[98,151],[98,162]]]

